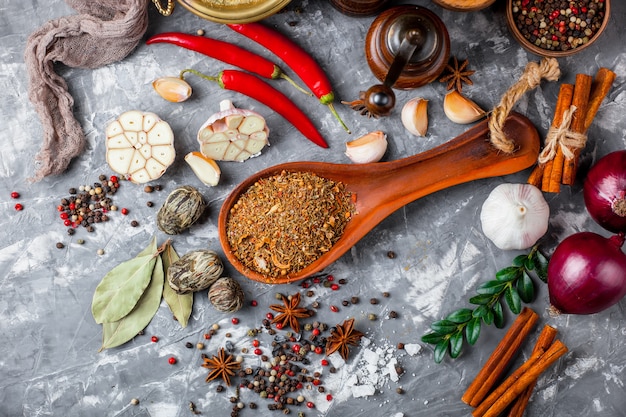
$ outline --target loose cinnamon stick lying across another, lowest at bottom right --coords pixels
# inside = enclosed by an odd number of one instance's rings
[[[560,340],[556,340],[548,350],[539,355],[538,358],[532,356],[533,363],[526,365],[524,363],[521,367],[524,367],[524,371],[517,375],[514,381],[508,383],[509,386],[504,390],[496,401],[489,407],[482,417],[497,417],[502,413],[514,400],[517,398],[533,381],[536,381],[539,375],[541,375],[546,369],[548,369],[554,362],[556,362],[561,356],[567,353],[567,346]],[[529,359],[529,361],[531,360]],[[520,367],[520,368],[521,368]],[[512,379],[513,375],[509,377]]]

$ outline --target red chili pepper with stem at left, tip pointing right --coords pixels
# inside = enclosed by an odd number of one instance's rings
[[[188,72],[206,80],[217,82],[220,87],[226,90],[236,91],[265,104],[289,121],[311,142],[322,148],[328,148],[328,144],[317,131],[311,119],[286,95],[260,78],[238,70],[224,70],[217,77],[212,77],[193,69],[181,71],[180,77],[183,78],[184,74]]]

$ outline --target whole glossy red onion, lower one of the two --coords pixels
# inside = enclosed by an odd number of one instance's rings
[[[565,314],[593,314],[626,295],[624,234],[605,238],[592,232],[563,240],[548,263],[550,303]]]

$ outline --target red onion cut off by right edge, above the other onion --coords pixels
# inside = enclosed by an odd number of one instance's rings
[[[585,178],[585,206],[591,217],[613,233],[626,232],[626,150],[598,160]]]

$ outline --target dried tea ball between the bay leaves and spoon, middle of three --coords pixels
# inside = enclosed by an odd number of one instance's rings
[[[209,288],[224,272],[222,260],[212,250],[186,253],[167,268],[167,282],[178,294]]]

